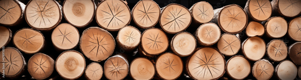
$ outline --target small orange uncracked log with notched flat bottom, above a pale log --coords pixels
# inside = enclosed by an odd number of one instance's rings
[[[262,36],[264,32],[265,28],[263,27],[263,25],[255,21],[250,21],[246,28],[246,35],[249,37],[254,37],[256,35]]]

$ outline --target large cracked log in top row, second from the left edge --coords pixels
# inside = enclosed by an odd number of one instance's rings
[[[62,20],[61,8],[55,0],[30,0],[25,7],[25,20],[33,29],[50,31]]]

